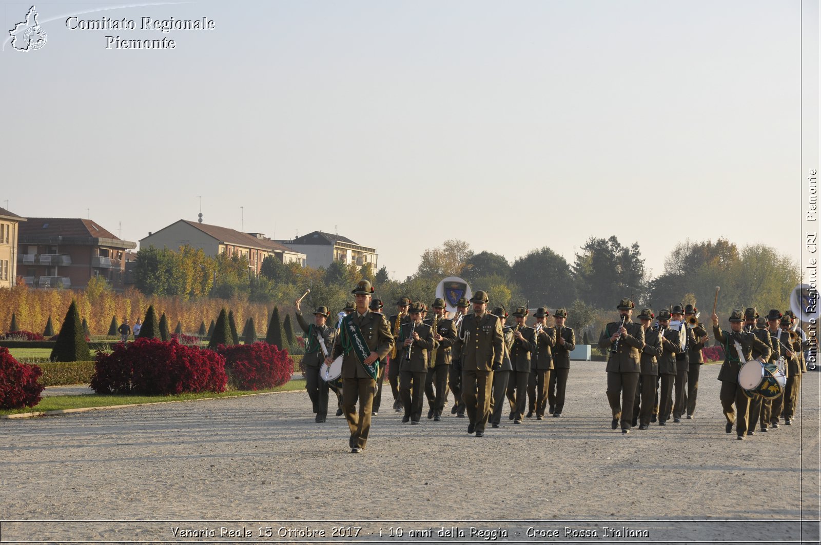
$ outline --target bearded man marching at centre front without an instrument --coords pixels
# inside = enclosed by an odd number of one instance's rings
[[[493,371],[502,368],[502,323],[488,313],[488,294],[476,291],[470,298],[473,314],[462,319],[458,339],[462,364],[462,401],[465,401],[470,424],[467,433],[484,437],[490,415],[490,392]]]

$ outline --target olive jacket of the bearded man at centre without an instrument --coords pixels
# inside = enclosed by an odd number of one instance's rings
[[[468,314],[459,327],[458,341],[461,365],[465,371],[492,371],[502,364],[504,335],[502,320],[489,312],[479,318]]]

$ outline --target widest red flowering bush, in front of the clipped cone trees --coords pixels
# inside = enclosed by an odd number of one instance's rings
[[[228,382],[222,355],[176,339],[119,342],[111,354],[98,352],[95,361],[91,387],[97,393],[224,392]]]

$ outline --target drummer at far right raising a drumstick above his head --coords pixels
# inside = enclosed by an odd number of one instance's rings
[[[736,424],[737,438],[743,439],[747,433],[750,399],[738,385],[738,372],[741,365],[752,358],[753,348],[759,350],[765,359],[769,357],[770,349],[753,333],[742,331],[744,313],[741,310],[733,310],[730,314],[731,332],[722,331],[718,326],[718,315],[715,313],[710,315],[710,320],[713,323],[713,335],[724,347],[724,363],[718,371],[718,380],[722,381],[718,396],[721,399],[724,417],[727,419],[724,431],[732,433],[732,424]],[[733,410],[733,403],[736,410]]]

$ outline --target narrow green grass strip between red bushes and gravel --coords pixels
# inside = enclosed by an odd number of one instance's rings
[[[294,390],[304,390],[305,380],[291,380],[281,387],[269,388],[267,390],[232,390],[229,392],[214,393],[202,392],[199,394],[181,394],[179,396],[121,396],[121,395],[98,395],[89,394],[85,396],[48,396],[40,400],[34,407],[23,407],[22,409],[3,409],[0,414],[20,414],[44,412],[47,410],[80,409],[85,407],[105,407],[108,405],[131,405],[134,403],[163,403],[165,401],[191,401],[210,397],[236,397],[248,396],[264,392],[291,392]]]

